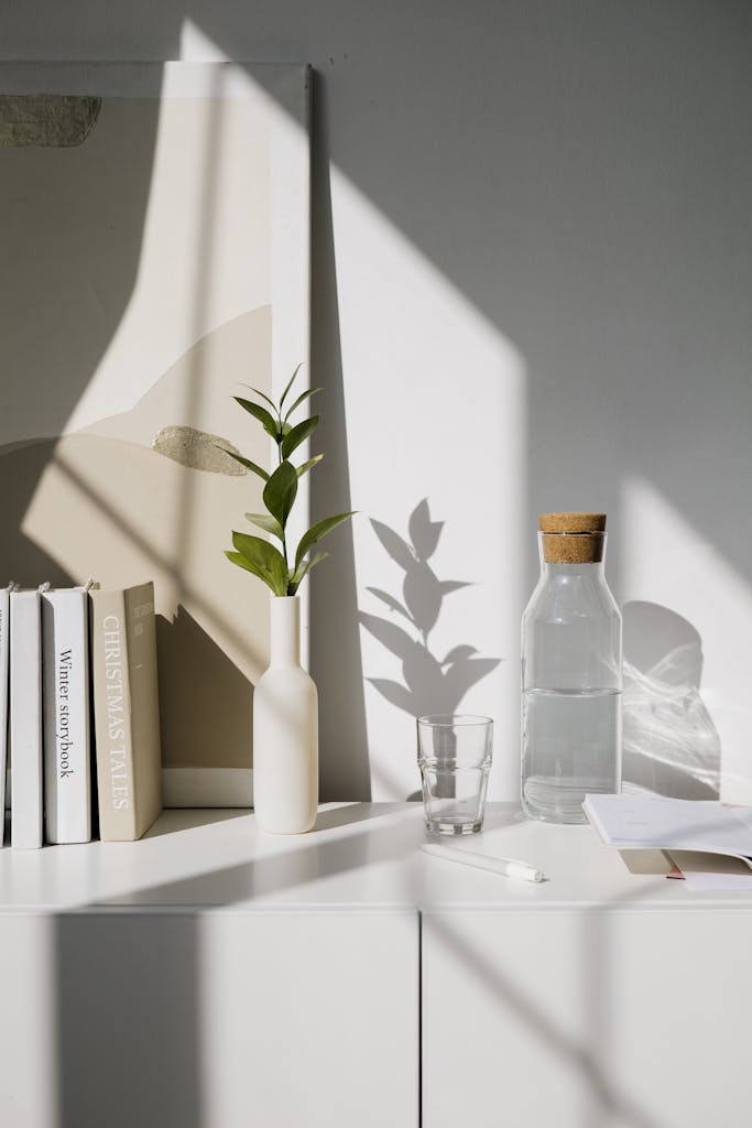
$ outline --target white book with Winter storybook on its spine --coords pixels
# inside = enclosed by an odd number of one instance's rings
[[[42,592],[46,840],[91,840],[89,597]]]

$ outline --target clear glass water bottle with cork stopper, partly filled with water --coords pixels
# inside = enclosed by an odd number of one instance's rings
[[[621,615],[603,573],[604,513],[543,513],[522,617],[522,807],[585,822],[621,785]]]

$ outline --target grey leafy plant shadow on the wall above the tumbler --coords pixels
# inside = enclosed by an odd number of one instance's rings
[[[446,596],[470,587],[467,580],[440,580],[428,561],[439,547],[443,521],[432,521],[428,501],[421,501],[408,521],[409,541],[381,521],[371,521],[373,531],[389,556],[402,570],[401,598],[381,588],[366,588],[392,616],[392,619],[361,611],[361,625],[402,664],[402,680],[366,678],[391,705],[410,716],[427,713],[457,713],[468,690],[496,669],[501,659],[479,658],[475,646],[458,643],[437,656],[430,636]],[[414,796],[409,796],[414,797]]]

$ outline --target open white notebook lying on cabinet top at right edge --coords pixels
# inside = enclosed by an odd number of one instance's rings
[[[609,846],[666,851],[688,881],[690,872],[698,872],[697,863],[684,869],[674,857],[680,852],[738,858],[749,870],[738,888],[752,888],[752,808],[660,795],[586,795],[583,809]],[[714,870],[717,865],[708,864]],[[720,888],[723,882],[710,884]]]

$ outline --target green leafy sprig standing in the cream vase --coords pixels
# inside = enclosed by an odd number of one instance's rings
[[[300,368],[301,365],[299,364],[292,373],[286,388],[280,397],[278,404],[275,404],[263,391],[259,391],[258,388],[249,389],[259,399],[263,399],[265,404],[268,404],[272,411],[268,411],[262,404],[255,403],[253,399],[244,399],[240,396],[233,397],[236,403],[244,411],[248,412],[249,415],[253,415],[262,424],[266,433],[274,439],[277,447],[276,469],[272,474],[267,474],[263,467],[257,466],[256,462],[251,462],[250,459],[223,448],[225,453],[235,458],[241,466],[245,466],[246,469],[251,470],[259,478],[263,478],[263,499],[266,512],[246,513],[246,517],[256,528],[271,534],[281,543],[280,549],[271,541],[264,540],[263,537],[233,530],[232,544],[236,550],[225,552],[224,555],[233,564],[237,564],[238,567],[242,567],[247,572],[251,572],[258,576],[259,580],[263,580],[275,596],[294,596],[297,593],[310,570],[320,564],[329,555],[328,553],[316,553],[311,556],[311,549],[327,534],[353,515],[352,512],[337,513],[335,517],[326,517],[322,521],[317,521],[300,538],[292,563],[290,562],[287,556],[287,519],[298,494],[298,479],[324,458],[324,455],[316,455],[307,462],[303,462],[302,466],[293,466],[290,461],[290,456],[313,433],[319,422],[318,415],[311,415],[309,418],[295,424],[291,423],[290,420],[301,404],[316,395],[317,391],[321,391],[321,388],[307,388],[306,391],[302,391],[298,396],[292,406],[286,409],[285,414],[282,414],[287,395],[292,389]]]

